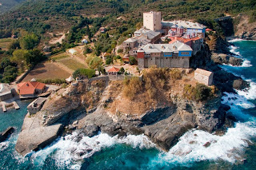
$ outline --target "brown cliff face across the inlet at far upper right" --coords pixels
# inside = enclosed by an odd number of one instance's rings
[[[236,17],[238,24],[234,26],[234,36],[246,40],[256,40],[256,22],[250,22],[250,18],[246,15],[238,15]]]

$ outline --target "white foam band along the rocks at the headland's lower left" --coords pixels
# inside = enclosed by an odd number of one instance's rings
[[[53,158],[56,160],[58,167],[80,169],[82,159],[88,158],[95,152],[102,150],[102,148],[111,147],[114,144],[130,144],[138,148],[152,148],[155,146],[144,135],[129,135],[118,139],[118,136],[111,137],[105,133],[101,133],[90,138],[83,136],[81,133],[73,132],[70,135],[60,138],[49,147],[39,152],[34,152],[31,158],[34,164],[42,165],[46,157],[54,153]]]

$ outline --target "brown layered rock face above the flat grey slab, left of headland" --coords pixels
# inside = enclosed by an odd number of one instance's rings
[[[98,105],[105,87],[105,80],[86,80],[78,81],[77,85],[70,85],[67,89],[60,89],[46,101],[39,112],[42,115],[42,125],[52,125],[74,109],[93,109]]]

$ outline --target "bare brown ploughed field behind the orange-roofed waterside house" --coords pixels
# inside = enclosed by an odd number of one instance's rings
[[[54,63],[46,62],[38,64],[25,78],[24,81],[30,81],[32,78],[36,79],[54,79],[54,78],[67,78],[70,73],[66,70],[59,68]]]

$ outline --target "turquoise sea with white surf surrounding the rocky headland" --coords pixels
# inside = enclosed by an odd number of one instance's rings
[[[164,152],[146,136],[129,135],[122,139],[99,132],[83,136],[72,132],[60,136],[38,152],[22,157],[15,151],[30,101],[18,101],[21,109],[0,111],[0,131],[14,126],[16,131],[0,143],[2,169],[255,169],[256,167],[256,42],[232,40],[230,51],[244,62],[242,66],[221,65],[250,82],[250,89],[225,93],[222,103],[238,119],[223,136],[191,129],[178,143]],[[209,147],[203,146],[210,142]]]

